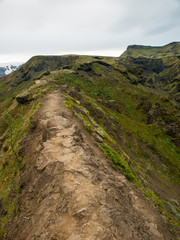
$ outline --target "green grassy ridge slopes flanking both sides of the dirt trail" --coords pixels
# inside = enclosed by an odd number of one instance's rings
[[[170,64],[167,58],[163,61]],[[173,59],[171,61],[171,67],[176,69],[176,59],[175,62]],[[42,96],[55,86],[66,84],[68,87],[63,88],[66,106],[83,121],[112,166],[153,199],[154,205],[167,216],[171,231],[177,233],[180,218],[180,150],[174,142],[179,136],[167,134],[170,123],[179,123],[177,102],[162,88],[152,88],[148,84],[137,82],[132,84],[137,76],[129,71],[129,64],[127,60],[119,61],[108,57],[40,56],[23,65],[23,70],[2,79],[2,232],[16,209],[12,199],[21,191],[18,185],[20,168],[29,164],[28,160],[18,155],[19,142],[28,132],[30,118],[38,108]],[[51,72],[44,76],[42,73],[47,70]],[[35,85],[34,78],[48,82]],[[29,88],[33,100],[26,105],[18,105],[16,95]],[[149,123],[149,112],[157,108],[161,109],[160,113],[153,116],[153,123]],[[164,112],[167,115],[161,114]],[[9,121],[5,121],[7,115]],[[13,147],[12,139],[13,143],[16,142]]]

